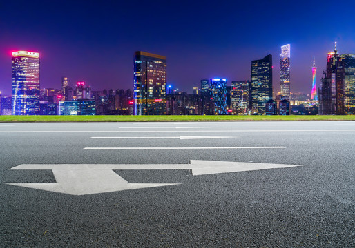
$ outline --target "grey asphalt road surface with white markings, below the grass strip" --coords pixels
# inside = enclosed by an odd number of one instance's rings
[[[355,122],[0,123],[0,247],[355,247]]]

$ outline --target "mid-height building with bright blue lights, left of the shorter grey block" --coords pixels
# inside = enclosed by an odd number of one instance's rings
[[[227,80],[211,79],[213,114],[227,114]]]

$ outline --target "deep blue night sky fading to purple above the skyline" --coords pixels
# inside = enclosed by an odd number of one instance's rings
[[[251,60],[291,44],[291,92],[311,92],[327,52],[355,53],[355,1],[0,1],[0,91],[11,94],[11,52],[41,57],[40,83],[60,89],[133,88],[133,53],[166,56],[168,84],[192,92],[200,79],[250,79]]]

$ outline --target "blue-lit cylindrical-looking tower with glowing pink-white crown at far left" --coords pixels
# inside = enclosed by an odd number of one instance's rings
[[[39,53],[12,52],[12,115],[39,114]]]

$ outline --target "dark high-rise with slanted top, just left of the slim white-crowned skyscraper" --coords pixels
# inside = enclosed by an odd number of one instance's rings
[[[272,99],[272,56],[251,61],[251,112],[265,113],[265,104]]]

